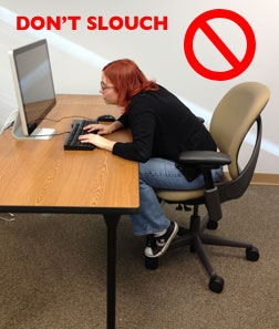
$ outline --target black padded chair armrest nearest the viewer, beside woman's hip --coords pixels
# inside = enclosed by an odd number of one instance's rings
[[[185,151],[179,154],[178,163],[190,166],[220,167],[231,163],[228,154],[215,151]]]

